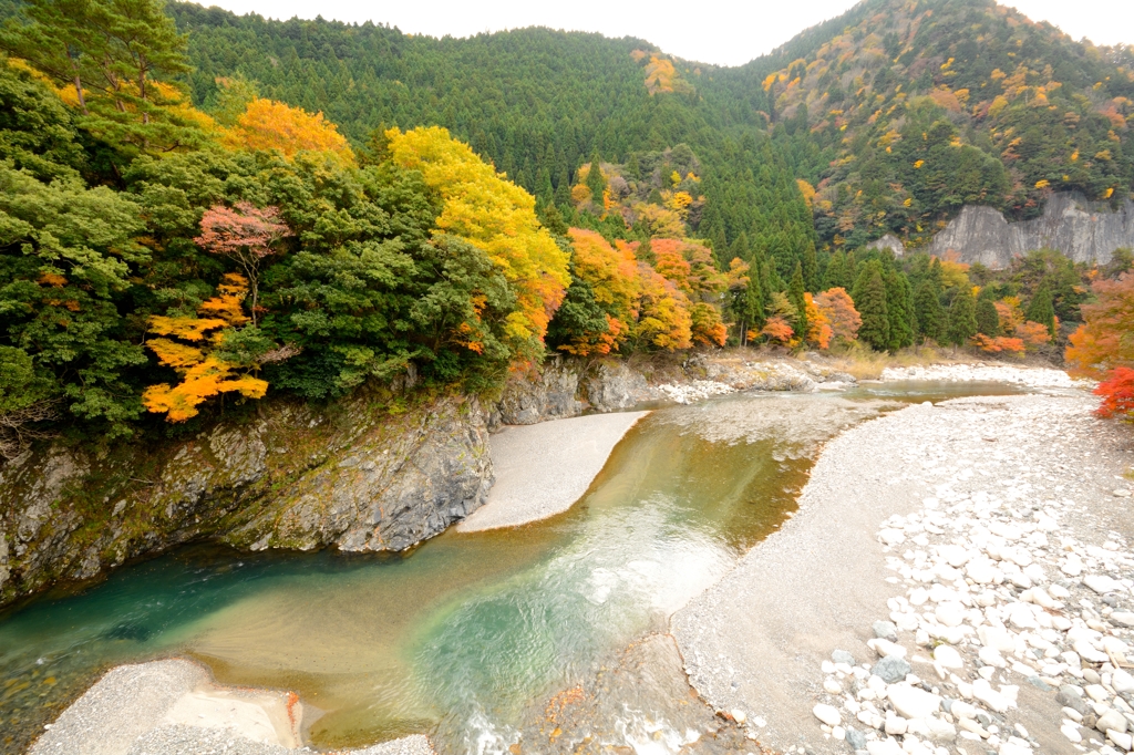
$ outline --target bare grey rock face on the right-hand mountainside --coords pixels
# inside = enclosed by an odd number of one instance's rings
[[[1127,200],[1111,212],[1108,204],[1067,192],[1052,194],[1042,217],[1018,223],[1009,223],[992,207],[965,206],[929,251],[1000,269],[1033,249],[1058,249],[1075,262],[1106,263],[1122,247],[1134,247],[1134,203]]]

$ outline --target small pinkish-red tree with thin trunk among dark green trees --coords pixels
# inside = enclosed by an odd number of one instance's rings
[[[291,236],[287,223],[280,220],[279,209],[256,209],[248,202],[238,202],[235,209],[213,205],[201,218],[201,236],[196,243],[211,254],[232,260],[244,271],[252,289],[252,323],[260,312],[260,266],[265,257],[279,252],[278,243]]]

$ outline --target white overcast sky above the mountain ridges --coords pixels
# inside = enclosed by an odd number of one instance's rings
[[[390,24],[403,32],[468,36],[523,26],[636,36],[666,52],[720,66],[739,66],[798,32],[854,6],[853,0],[197,0],[270,18],[332,18]],[[1016,0],[1021,11],[1073,37],[1098,44],[1134,43],[1134,0]]]

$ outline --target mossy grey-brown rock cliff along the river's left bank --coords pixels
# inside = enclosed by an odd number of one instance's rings
[[[54,444],[0,467],[0,605],[191,540],[399,551],[479,508],[485,412],[382,390],[259,416],[159,448]]]

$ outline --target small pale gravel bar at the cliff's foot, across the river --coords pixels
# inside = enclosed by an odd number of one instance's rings
[[[538,425],[509,425],[492,436],[496,483],[488,502],[457,532],[547,519],[583,497],[623,435],[649,412],[595,414]]]

